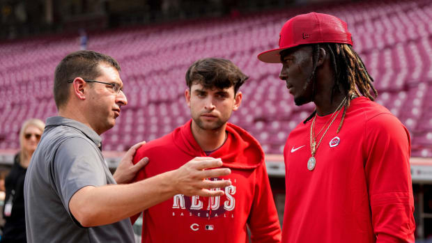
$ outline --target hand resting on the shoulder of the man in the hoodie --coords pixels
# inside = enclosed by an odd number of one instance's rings
[[[114,180],[116,180],[117,184],[125,184],[133,180],[137,172],[148,163],[148,157],[142,158],[137,164],[132,163],[135,152],[139,147],[144,145],[144,143],[146,142],[142,141],[130,147],[128,152],[126,152],[125,156],[121,159],[114,172]]]

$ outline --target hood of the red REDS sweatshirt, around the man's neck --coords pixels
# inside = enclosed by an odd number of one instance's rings
[[[192,119],[172,132],[173,141],[180,150],[192,157],[207,157],[192,134]],[[264,162],[264,152],[256,139],[241,127],[226,123],[228,137],[225,143],[208,157],[221,158],[224,167],[254,169]]]

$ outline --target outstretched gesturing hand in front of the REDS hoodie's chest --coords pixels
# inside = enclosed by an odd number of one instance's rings
[[[231,185],[231,181],[205,180],[206,178],[217,178],[231,173],[229,168],[216,168],[220,166],[222,166],[221,159],[195,157],[175,171],[171,171],[173,173],[171,177],[172,186],[178,191],[178,194],[186,196],[222,196],[224,191],[220,189]],[[218,190],[210,190],[212,188]]]

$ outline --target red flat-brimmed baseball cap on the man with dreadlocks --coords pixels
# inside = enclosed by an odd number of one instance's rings
[[[323,13],[297,15],[282,26],[279,48],[262,52],[258,58],[265,63],[280,63],[279,53],[284,49],[326,42],[353,45],[346,22]]]

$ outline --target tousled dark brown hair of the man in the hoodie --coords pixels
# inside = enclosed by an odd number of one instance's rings
[[[204,88],[229,88],[234,94],[248,79],[240,68],[224,58],[203,58],[194,62],[186,72],[186,84],[201,84]]]

